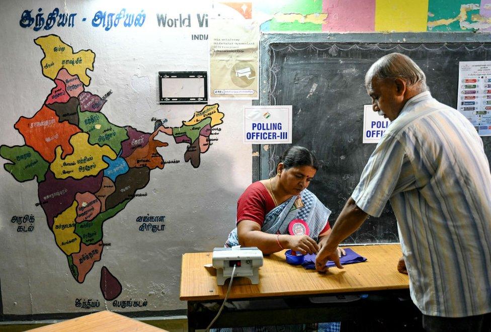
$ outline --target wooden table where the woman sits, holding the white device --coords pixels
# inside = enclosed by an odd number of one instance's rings
[[[399,244],[351,248],[368,260],[342,270],[330,268],[327,274],[287,264],[284,252],[265,256],[259,284],[234,279],[228,298],[235,308],[224,309],[213,327],[340,321],[379,313],[400,318],[399,309],[418,314],[409,299],[408,277],[396,269]],[[180,299],[188,301],[189,330],[207,326],[216,313],[211,304],[221,304],[227,291],[228,281],[217,286],[215,270],[204,267],[211,262],[211,253],[182,258]]]

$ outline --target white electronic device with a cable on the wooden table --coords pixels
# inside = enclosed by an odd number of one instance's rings
[[[256,246],[213,249],[213,267],[216,269],[216,284],[224,285],[225,280],[232,276],[251,279],[253,285],[259,284],[259,267],[263,266],[263,252]]]

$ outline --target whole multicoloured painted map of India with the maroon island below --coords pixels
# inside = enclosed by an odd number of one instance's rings
[[[87,90],[96,54],[74,52],[58,36],[34,40],[43,53],[42,74],[54,84],[44,104],[32,117],[21,116],[14,127],[25,145],[0,147],[10,160],[4,168],[17,181],[38,183],[38,199],[53,240],[66,255],[67,269],[83,283],[104,248],[103,225],[121,212],[144,188],[150,172],[166,165],[158,147],[169,143],[155,139],[159,133],[185,143],[184,160],[194,168],[212,143],[212,128],[222,124],[218,104],[206,105],[180,127],[161,123],[152,133],[110,122],[103,108],[108,95]],[[119,280],[101,268],[101,292],[106,300],[122,292]]]

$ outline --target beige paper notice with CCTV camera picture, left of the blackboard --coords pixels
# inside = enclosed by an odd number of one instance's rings
[[[258,99],[259,24],[253,20],[210,20],[210,97]]]

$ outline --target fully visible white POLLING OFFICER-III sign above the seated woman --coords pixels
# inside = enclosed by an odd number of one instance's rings
[[[244,106],[244,143],[291,143],[292,107]]]

